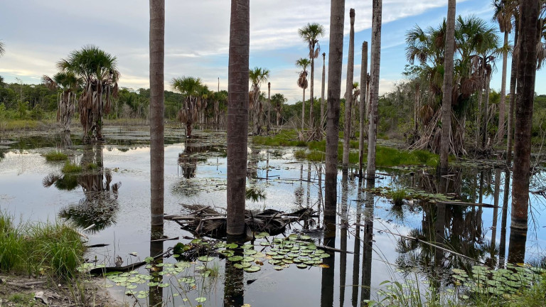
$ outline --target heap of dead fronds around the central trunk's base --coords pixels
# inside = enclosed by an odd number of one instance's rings
[[[227,215],[215,211],[210,206],[185,205],[183,207],[191,210],[187,215],[165,215],[165,220],[172,220],[196,235],[207,235],[215,238],[223,238],[226,233]],[[247,236],[252,238],[252,232],[267,232],[269,235],[278,235],[286,230],[287,225],[299,220],[310,220],[314,210],[304,208],[295,212],[282,212],[267,209],[262,212],[245,210],[245,223]]]

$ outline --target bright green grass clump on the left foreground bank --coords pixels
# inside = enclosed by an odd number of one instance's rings
[[[42,222],[15,226],[0,213],[0,271],[71,278],[84,252],[73,227]]]

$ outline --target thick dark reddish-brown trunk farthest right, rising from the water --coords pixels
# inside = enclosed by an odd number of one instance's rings
[[[531,158],[532,103],[537,73],[537,20],[540,12],[536,0],[520,1],[520,49],[518,57],[518,100],[515,110],[514,171],[512,216],[508,262],[525,260],[528,228],[529,181]]]

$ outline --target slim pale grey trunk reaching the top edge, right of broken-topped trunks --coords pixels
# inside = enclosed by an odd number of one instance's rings
[[[372,58],[370,68],[370,118],[368,126],[368,167],[366,177],[375,178],[375,143],[378,134],[379,71],[381,62],[382,0],[373,0]]]

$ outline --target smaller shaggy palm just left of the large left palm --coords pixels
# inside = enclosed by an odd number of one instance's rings
[[[57,72],[53,78],[43,75],[42,82],[50,90],[61,90],[57,100],[57,122],[63,126],[63,131],[70,132],[70,123],[76,110],[76,92],[80,87],[80,79],[73,72]]]

